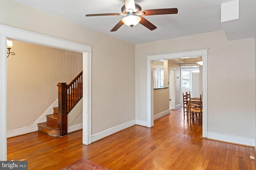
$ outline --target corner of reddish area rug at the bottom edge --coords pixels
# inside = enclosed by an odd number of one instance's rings
[[[61,170],[110,170],[87,159],[80,159]]]

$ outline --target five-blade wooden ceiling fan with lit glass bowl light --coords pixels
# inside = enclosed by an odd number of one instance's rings
[[[119,13],[109,13],[109,14],[86,14],[85,16],[126,16],[122,18],[110,31],[118,30],[123,24],[130,27],[137,25],[138,23],[144,25],[150,30],[156,29],[150,21],[146,20],[142,16],[152,16],[152,15],[164,15],[164,14],[177,14],[177,8],[164,8],[164,9],[153,9],[153,10],[142,10],[139,4],[136,4],[134,0],[124,0],[124,5],[121,8],[122,14]]]

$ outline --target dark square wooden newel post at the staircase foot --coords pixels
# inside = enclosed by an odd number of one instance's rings
[[[67,113],[67,84],[58,83],[58,127],[60,128],[60,136],[68,134],[68,113]]]

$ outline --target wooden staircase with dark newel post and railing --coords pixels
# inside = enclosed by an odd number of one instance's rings
[[[53,114],[46,115],[46,122],[38,123],[38,131],[49,136],[67,135],[68,113],[82,98],[82,72],[70,82],[58,83],[58,105],[53,108]]]

